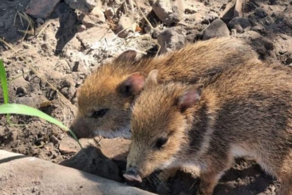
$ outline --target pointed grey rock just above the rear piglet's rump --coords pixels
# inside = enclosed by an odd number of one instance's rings
[[[220,19],[214,20],[203,32],[203,40],[215,37],[230,37],[227,25]]]

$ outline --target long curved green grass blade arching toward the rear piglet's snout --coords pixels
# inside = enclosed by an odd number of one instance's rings
[[[75,136],[75,134],[68,127],[66,127],[63,123],[61,123],[57,119],[41,112],[40,110],[37,110],[35,108],[29,107],[29,106],[26,106],[23,104],[15,104],[15,103],[2,104],[2,105],[0,105],[0,114],[29,115],[29,116],[34,116],[34,117],[39,117],[39,118],[45,119],[45,120],[61,127],[65,131],[69,131],[70,134],[74,137],[74,139],[79,143],[78,138]],[[79,145],[80,145],[80,143],[79,143]],[[81,147],[81,145],[80,145],[80,147]]]

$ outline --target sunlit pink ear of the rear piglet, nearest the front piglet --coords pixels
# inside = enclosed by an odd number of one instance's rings
[[[146,75],[141,72],[130,74],[118,87],[119,93],[125,97],[138,94],[145,84]]]

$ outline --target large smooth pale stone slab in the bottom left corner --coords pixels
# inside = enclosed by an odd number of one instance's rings
[[[36,157],[0,150],[2,195],[154,195]]]

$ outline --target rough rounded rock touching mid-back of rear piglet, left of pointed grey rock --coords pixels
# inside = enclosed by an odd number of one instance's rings
[[[160,54],[181,49],[185,43],[183,32],[179,28],[165,28],[157,35],[157,41],[161,46]]]

